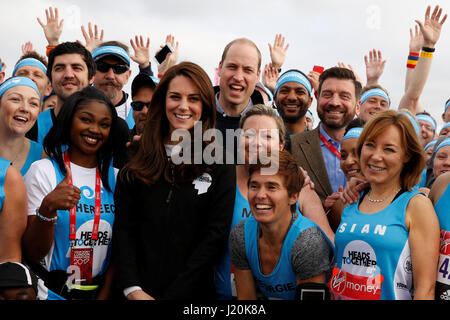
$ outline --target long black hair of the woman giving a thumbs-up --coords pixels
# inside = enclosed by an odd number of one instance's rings
[[[108,171],[112,163],[113,152],[115,149],[114,141],[118,140],[118,116],[116,108],[112,102],[105,96],[105,94],[99,89],[88,86],[81,91],[75,92],[64,102],[61,111],[56,118],[56,122],[50,129],[49,133],[44,139],[44,150],[45,152],[56,160],[60,170],[66,174],[66,168],[64,166],[63,159],[63,146],[69,146],[70,132],[72,130],[72,119],[75,111],[88,102],[97,101],[103,103],[108,107],[111,112],[111,128],[109,132],[108,139],[97,151],[97,166],[100,172],[103,186],[109,190],[111,187],[108,182]]]

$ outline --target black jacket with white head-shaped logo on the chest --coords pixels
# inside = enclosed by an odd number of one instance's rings
[[[162,177],[150,187],[119,173],[112,250],[120,290],[139,286],[155,299],[215,298],[214,266],[228,239],[236,173],[233,165],[211,168],[195,184]]]

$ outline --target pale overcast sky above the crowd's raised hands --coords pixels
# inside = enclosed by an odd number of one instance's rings
[[[275,34],[286,37],[290,47],[284,70],[305,73],[314,65],[325,68],[337,62],[351,64],[365,79],[364,55],[376,48],[387,60],[380,84],[388,89],[396,108],[404,92],[409,28],[424,20],[427,5],[440,4],[450,12],[448,1],[424,0],[80,0],[8,1],[1,10],[2,48],[7,76],[21,55],[21,44],[31,41],[45,54],[46,40],[36,18],[45,21],[45,9],[57,7],[64,18],[61,41],[84,40],[81,25],[96,23],[105,30],[104,40],[129,44],[136,34],[150,37],[152,56],[167,34],[180,42],[179,61],[201,65],[214,79],[225,45],[238,37],[253,40],[262,52],[263,65],[270,62],[268,42]],[[445,58],[447,57],[447,58]],[[450,19],[444,24],[436,46],[428,82],[421,102],[442,125],[441,114],[450,98]],[[156,73],[156,62],[152,61]],[[133,66],[132,78],[137,74]],[[131,81],[126,87],[129,91]],[[315,103],[312,111],[315,114]],[[315,116],[317,124],[317,116]]]

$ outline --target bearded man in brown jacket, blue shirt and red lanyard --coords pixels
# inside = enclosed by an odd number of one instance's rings
[[[361,83],[349,69],[333,67],[319,78],[316,129],[291,137],[291,152],[304,168],[322,202],[344,186],[340,169],[340,143],[345,127],[359,114]],[[320,150],[320,152],[319,152]]]

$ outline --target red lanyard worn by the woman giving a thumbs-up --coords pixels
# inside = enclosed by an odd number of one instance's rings
[[[64,152],[64,164],[66,167],[70,168],[70,157],[69,153],[66,151]],[[69,185],[73,185],[72,176],[69,177]],[[92,239],[97,240],[98,238],[98,226],[100,224],[100,209],[102,205],[101,200],[101,188],[100,188],[100,173],[98,172],[98,168],[95,172],[95,215],[94,215],[94,226],[92,228]],[[69,239],[75,240],[76,239],[76,223],[77,223],[77,213],[76,213],[76,207],[74,206],[72,209],[70,209],[70,224],[69,224]]]

